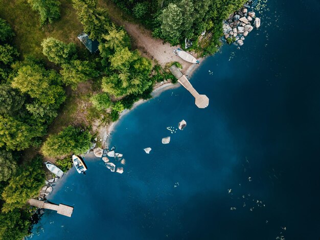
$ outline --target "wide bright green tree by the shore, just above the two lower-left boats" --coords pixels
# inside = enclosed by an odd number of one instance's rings
[[[80,155],[89,150],[92,135],[87,130],[68,126],[59,134],[50,135],[41,147],[44,156],[60,157],[67,154]]]

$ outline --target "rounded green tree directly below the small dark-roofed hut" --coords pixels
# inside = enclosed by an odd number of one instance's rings
[[[89,61],[73,60],[70,64],[62,64],[62,81],[66,85],[71,85],[72,89],[77,89],[79,82],[87,81],[97,77],[99,72],[95,70],[95,63]]]

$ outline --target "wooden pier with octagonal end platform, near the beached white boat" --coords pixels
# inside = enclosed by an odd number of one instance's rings
[[[195,104],[199,108],[205,108],[209,105],[209,98],[205,95],[199,94],[191,85],[189,80],[185,75],[183,75],[180,70],[175,66],[172,65],[170,67],[171,73],[178,79],[178,82],[187,89],[192,96],[195,98]]]

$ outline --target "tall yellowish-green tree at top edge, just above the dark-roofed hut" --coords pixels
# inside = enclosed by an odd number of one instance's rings
[[[97,8],[97,0],[73,0],[73,7],[90,39],[99,39],[107,32],[109,17],[105,9]]]

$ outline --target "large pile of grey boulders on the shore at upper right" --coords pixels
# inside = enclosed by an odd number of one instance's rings
[[[254,22],[252,24],[253,20]],[[223,23],[224,38],[226,40],[231,39],[239,46],[242,46],[245,37],[254,29],[253,26],[256,28],[260,27],[260,18],[256,17],[254,11],[248,11],[247,8],[242,8],[231,14]]]

